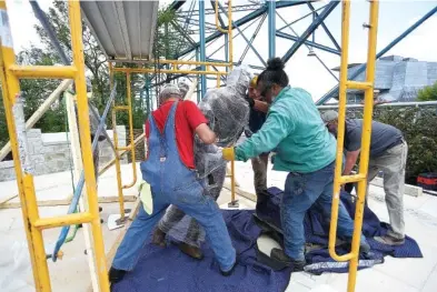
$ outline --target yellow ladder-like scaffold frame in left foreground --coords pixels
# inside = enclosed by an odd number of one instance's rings
[[[20,67],[16,64],[12,46],[12,38],[7,17],[7,6],[0,1],[0,12],[2,19],[2,44],[0,54],[0,77],[2,83],[3,102],[8,122],[8,131],[11,141],[19,198],[21,203],[22,217],[28,240],[30,260],[32,263],[33,279],[38,292],[50,292],[50,275],[47,265],[46,250],[43,245],[42,230],[54,226],[70,225],[72,223],[91,223],[93,249],[96,252],[95,262],[99,279],[100,291],[109,292],[107,266],[105,261],[103,238],[100,226],[98,198],[96,192],[96,178],[93,172],[90,124],[88,115],[87,88],[85,80],[83,44],[82,44],[82,22],[80,18],[80,6],[78,1],[69,1],[69,21],[71,29],[71,42],[73,52],[73,66],[69,67]],[[82,158],[85,164],[85,180],[88,193],[89,211],[85,213],[67,214],[57,218],[40,219],[37,198],[31,171],[22,165],[21,155],[18,148],[18,132],[14,122],[12,108],[16,103],[16,95],[20,92],[19,78],[64,78],[75,79],[76,91],[78,93],[78,115],[80,124],[80,139],[82,142]],[[26,132],[23,140],[26,142]],[[21,139],[21,138],[20,138]]]

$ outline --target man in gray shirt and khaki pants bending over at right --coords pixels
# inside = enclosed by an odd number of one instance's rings
[[[329,132],[337,137],[338,113],[327,111],[321,115]],[[362,120],[346,119],[346,163],[342,175],[350,174],[361,148]],[[381,243],[400,245],[405,242],[404,188],[408,145],[403,133],[393,125],[373,121],[368,182],[384,172],[384,190],[391,229],[387,235],[375,238]],[[368,189],[368,188],[367,188]],[[367,194],[366,194],[367,197]]]

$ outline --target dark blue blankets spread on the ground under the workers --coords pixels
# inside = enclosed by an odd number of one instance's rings
[[[278,223],[281,191],[272,188],[269,190],[271,200],[262,210],[257,210],[261,218],[271,219],[271,223]],[[352,213],[352,203],[347,195],[342,201]],[[208,243],[202,246],[205,259],[197,261],[182,254],[176,245],[169,244],[161,249],[146,244],[136,269],[128,273],[123,281],[113,286],[115,292],[256,292],[256,291],[284,291],[290,279],[290,270],[286,269],[274,272],[256,260],[256,240],[261,230],[254,221],[255,211],[224,211],[224,218],[228,225],[234,246],[238,251],[239,264],[231,276],[225,278],[219,273],[219,268],[213,260],[213,254]],[[280,228],[280,223],[279,223]],[[306,238],[308,243],[327,245],[328,221],[317,210],[310,210],[305,220]],[[380,223],[378,218],[369,209],[365,210],[364,233],[369,239],[373,254],[368,259],[361,259],[360,268],[371,266],[384,262],[385,255],[395,258],[421,258],[417,243],[406,239],[403,246],[387,246],[373,240],[375,235],[387,232],[387,225]],[[347,252],[349,246],[341,246],[338,252]],[[347,263],[334,262],[326,249],[318,249],[307,253],[308,272],[319,274],[321,272],[347,272]]]

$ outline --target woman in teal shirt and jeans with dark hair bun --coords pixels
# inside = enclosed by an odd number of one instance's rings
[[[247,161],[277,148],[274,170],[289,172],[280,207],[285,251],[274,249],[271,258],[301,271],[305,260],[304,218],[312,204],[330,218],[336,140],[328,132],[311,95],[290,88],[285,64],[270,59],[258,77],[257,91],[271,103],[262,128],[236,148],[222,150],[226,160]],[[354,222],[340,204],[338,235],[350,241]],[[370,246],[361,235],[361,252]]]

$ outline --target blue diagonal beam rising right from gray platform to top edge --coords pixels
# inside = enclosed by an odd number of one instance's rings
[[[279,2],[276,3],[276,8],[277,9],[279,9],[279,8],[287,8],[287,7],[304,4],[306,2],[308,2],[308,1],[279,1]],[[246,24],[247,22],[249,22],[249,21],[251,21],[251,20],[262,16],[266,12],[267,12],[267,4],[262,6],[260,9],[257,9],[257,10],[248,13],[247,16],[240,18],[239,20],[234,21],[232,22],[232,29],[235,29],[236,27],[241,27],[241,26]],[[224,29],[227,30],[228,27],[224,27]],[[224,34],[224,32],[217,31],[217,32],[212,33],[211,36],[207,37],[206,40],[205,40],[205,43],[208,43],[208,42],[210,42],[210,41],[221,37],[222,34]],[[199,48],[199,46],[200,46],[200,42],[196,43],[191,48],[188,48],[188,49],[183,50],[182,52],[180,52],[177,56],[177,58],[179,59],[180,57],[186,56],[189,52],[192,52],[193,50]]]

